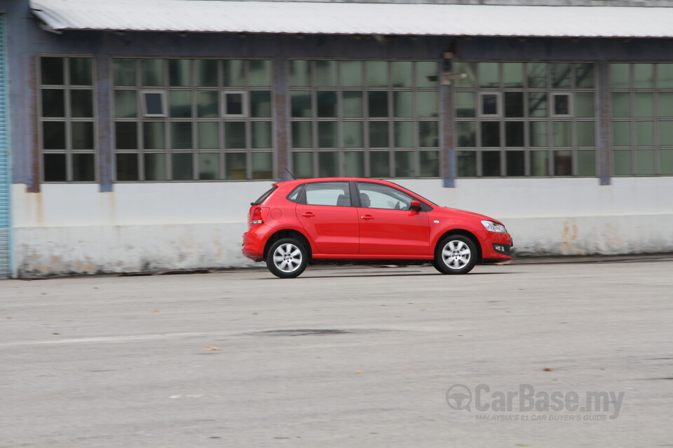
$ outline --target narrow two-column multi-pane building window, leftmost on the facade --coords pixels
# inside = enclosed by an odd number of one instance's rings
[[[95,182],[93,59],[39,58],[40,145],[44,182]]]

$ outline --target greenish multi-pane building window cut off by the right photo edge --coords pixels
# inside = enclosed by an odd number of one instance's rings
[[[673,174],[673,64],[610,64],[615,176]]]

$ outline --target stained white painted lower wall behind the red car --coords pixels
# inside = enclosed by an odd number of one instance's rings
[[[397,183],[507,226],[519,254],[673,252],[673,177]],[[240,254],[250,202],[271,182],[12,187],[15,276],[255,265]]]

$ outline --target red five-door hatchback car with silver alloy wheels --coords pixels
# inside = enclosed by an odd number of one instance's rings
[[[431,262],[443,274],[511,260],[512,237],[487,216],[440,207],[388,181],[274,183],[251,203],[243,255],[289,279],[309,262]]]

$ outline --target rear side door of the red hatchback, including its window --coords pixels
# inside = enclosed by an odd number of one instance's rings
[[[295,208],[297,219],[321,253],[358,253],[358,209],[348,181],[307,183]]]

